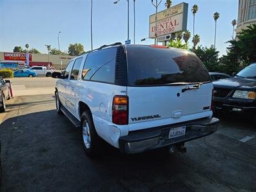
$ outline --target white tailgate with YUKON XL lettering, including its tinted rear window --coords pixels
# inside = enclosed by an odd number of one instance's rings
[[[129,45],[127,62],[129,131],[212,115],[211,77],[195,54]]]

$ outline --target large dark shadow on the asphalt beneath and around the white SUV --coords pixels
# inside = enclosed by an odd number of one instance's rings
[[[1,124],[0,138],[3,191],[204,191],[209,188],[232,191],[238,187],[255,188],[254,172],[248,171],[244,179],[234,172],[240,157],[231,162],[233,157],[216,147],[216,141],[225,144],[223,138],[218,140],[218,134],[207,140],[192,141],[191,150],[184,155],[169,155],[165,150],[157,150],[128,156],[108,147],[102,157],[89,159],[81,145],[80,131],[65,116],[50,110],[5,120]],[[227,161],[230,163],[223,167]],[[253,166],[244,165],[239,172],[250,168]]]

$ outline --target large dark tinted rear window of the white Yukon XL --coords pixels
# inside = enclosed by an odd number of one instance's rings
[[[191,52],[145,45],[126,49],[128,86],[211,82],[202,61]]]

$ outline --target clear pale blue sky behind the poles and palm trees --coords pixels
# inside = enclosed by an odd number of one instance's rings
[[[93,48],[127,39],[127,2],[120,0],[93,0]],[[130,38],[133,42],[133,1],[130,1]],[[154,0],[155,2],[156,0]],[[148,37],[149,15],[156,12],[150,0],[136,0],[136,44],[154,44]],[[159,2],[159,1],[158,1]],[[163,0],[159,11],[164,10]],[[200,45],[214,44],[214,12],[220,13],[217,24],[216,48],[220,55],[226,53],[228,40],[232,38],[230,22],[237,19],[238,0],[173,0],[173,5],[189,4],[188,29],[193,34],[194,4],[199,7],[195,16],[195,33],[200,35]],[[12,52],[17,45],[25,49],[36,48],[47,53],[45,44],[67,51],[69,44],[81,43],[85,51],[91,49],[89,0],[0,0],[0,51]],[[191,39],[189,45],[192,45]]]

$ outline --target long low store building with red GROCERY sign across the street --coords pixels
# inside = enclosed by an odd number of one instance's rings
[[[54,55],[54,54],[29,54],[29,66],[52,66],[56,69],[65,69],[67,67],[68,62],[74,58],[74,56],[69,55]],[[61,65],[60,65],[61,61]],[[0,52],[0,63],[7,67],[10,66],[24,66],[26,63],[26,53],[22,52]],[[8,67],[7,67],[8,68]],[[10,67],[12,68],[12,67]]]

